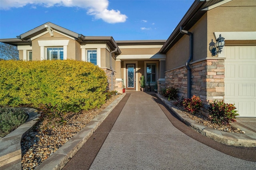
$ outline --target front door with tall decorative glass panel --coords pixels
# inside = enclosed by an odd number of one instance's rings
[[[126,89],[136,90],[135,64],[126,64]]]

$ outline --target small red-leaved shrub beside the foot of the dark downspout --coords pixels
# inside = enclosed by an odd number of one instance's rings
[[[194,114],[200,111],[202,107],[202,101],[200,100],[200,97],[193,95],[191,99],[183,99],[182,106],[188,113]]]

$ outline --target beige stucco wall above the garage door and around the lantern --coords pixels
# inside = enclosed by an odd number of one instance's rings
[[[209,43],[212,39],[214,42],[216,42],[213,32],[256,31],[255,0],[232,0],[231,2],[223,4],[222,6],[209,10],[207,13],[207,41]],[[211,57],[210,51],[207,55],[208,57]]]

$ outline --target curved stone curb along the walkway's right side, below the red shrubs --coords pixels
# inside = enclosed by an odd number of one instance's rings
[[[164,99],[164,97],[162,97],[158,93],[156,95],[160,100],[162,100],[162,102],[164,102],[164,104],[169,109],[171,109],[177,115],[177,117],[182,122],[184,122],[189,127],[193,128],[194,130],[198,131],[199,133],[203,134],[204,136],[207,136],[213,140],[230,146],[256,147],[256,136],[248,133],[241,134],[224,132],[221,130],[216,130],[214,128],[204,126],[190,119],[185,113],[173,107],[173,105],[168,100]]]

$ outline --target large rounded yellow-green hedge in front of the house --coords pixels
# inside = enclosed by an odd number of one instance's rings
[[[60,111],[88,110],[106,99],[106,74],[75,60],[0,61],[0,107],[57,105]]]

